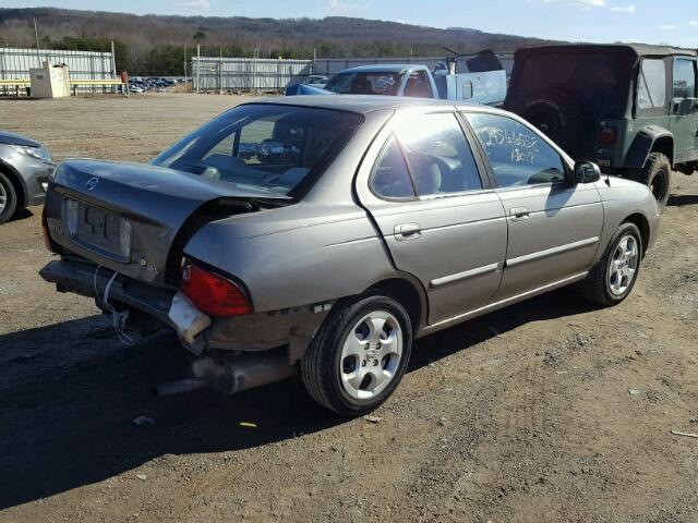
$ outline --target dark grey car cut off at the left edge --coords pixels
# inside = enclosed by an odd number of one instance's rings
[[[44,202],[56,165],[38,142],[0,131],[0,223],[29,205]]]

